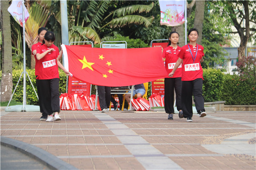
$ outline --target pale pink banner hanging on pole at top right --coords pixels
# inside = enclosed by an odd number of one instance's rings
[[[178,26],[185,23],[185,0],[159,0],[160,25]]]

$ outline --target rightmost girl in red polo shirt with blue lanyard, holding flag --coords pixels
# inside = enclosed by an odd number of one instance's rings
[[[192,94],[194,96],[195,108],[200,114],[199,117],[204,117],[207,114],[204,109],[204,97],[203,97],[203,69],[201,62],[204,61],[204,47],[198,45],[196,40],[198,39],[198,30],[192,28],[188,32],[189,44],[184,45],[180,53],[178,54],[178,60],[173,68],[169,77],[173,77],[178,65],[183,60],[182,67],[182,91],[181,101],[183,115],[180,117],[187,118],[187,122],[192,122],[193,109],[192,109]]]

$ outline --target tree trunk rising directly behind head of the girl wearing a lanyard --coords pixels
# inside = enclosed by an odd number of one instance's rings
[[[195,3],[195,21],[194,28],[198,29],[198,44],[202,44],[202,33],[204,23],[204,4],[205,0],[197,0]]]

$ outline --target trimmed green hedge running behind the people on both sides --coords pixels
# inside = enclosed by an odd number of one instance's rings
[[[17,85],[18,79],[23,70],[12,71],[13,90]],[[27,73],[32,81],[32,84],[37,92],[35,85],[35,69],[27,69]],[[64,72],[59,69],[60,75],[60,94],[66,93],[67,77]],[[205,102],[226,101],[226,105],[255,105],[256,104],[256,83],[255,81],[241,80],[238,75],[223,74],[217,69],[204,69],[203,81],[203,96]],[[148,84],[148,97],[150,94],[150,83]],[[96,93],[95,86],[92,85],[92,94]],[[38,105],[38,99],[29,81],[26,77],[26,100],[27,105]],[[23,101],[23,76],[17,85],[14,96],[12,97],[17,102]]]

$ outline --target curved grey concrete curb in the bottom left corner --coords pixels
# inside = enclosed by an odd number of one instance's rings
[[[46,152],[45,150],[42,150],[39,147],[35,147],[31,144],[27,144],[15,139],[10,139],[4,136],[0,136],[0,141],[1,145],[25,153],[27,156],[30,156],[38,161],[41,161],[42,163],[46,164],[48,167],[51,167],[52,169],[77,170],[77,168],[74,167],[73,165],[68,164],[65,161],[62,161],[61,159],[58,159],[56,156]]]

